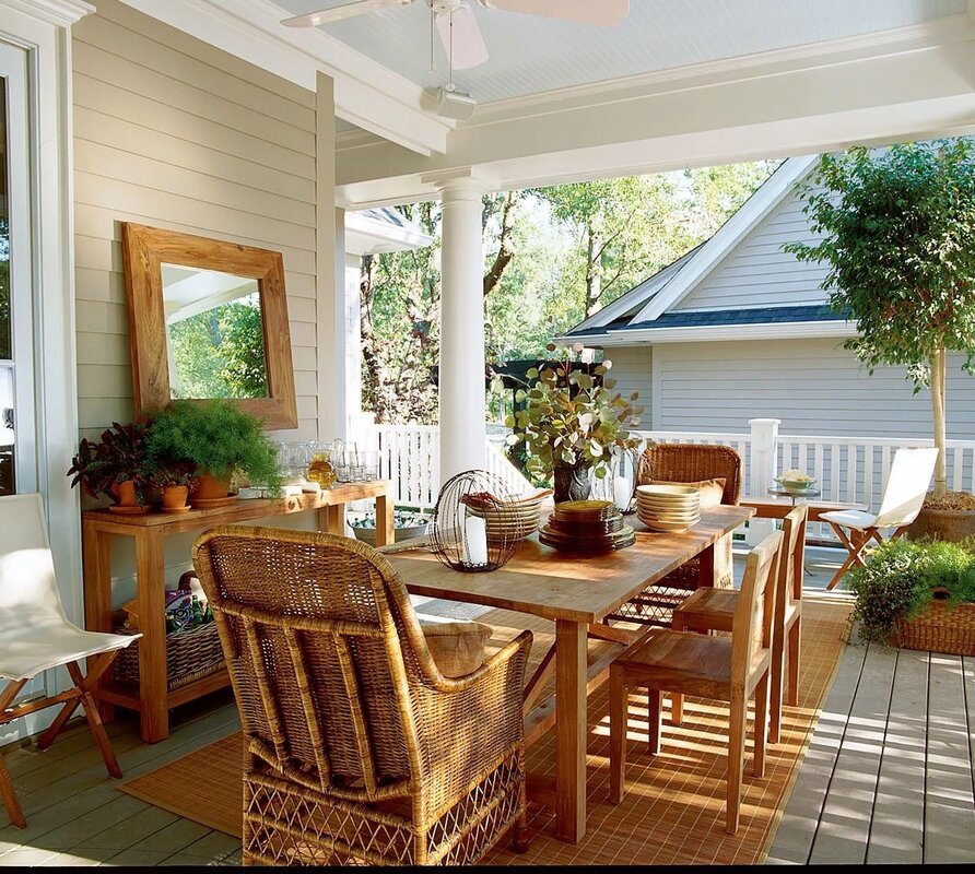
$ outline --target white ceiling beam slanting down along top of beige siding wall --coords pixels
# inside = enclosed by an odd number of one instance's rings
[[[122,0],[204,43],[315,91],[320,70],[336,82],[336,114],[415,154],[443,153],[453,122],[423,108],[423,88],[317,27],[284,27],[268,0]]]

